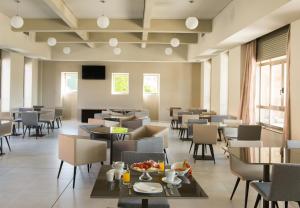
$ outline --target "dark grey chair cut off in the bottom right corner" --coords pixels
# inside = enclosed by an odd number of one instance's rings
[[[258,206],[261,197],[272,202],[272,208],[275,208],[277,201],[284,201],[285,207],[288,207],[289,201],[296,201],[300,207],[300,165],[273,165],[271,178],[271,182],[251,183],[258,192],[254,207]]]

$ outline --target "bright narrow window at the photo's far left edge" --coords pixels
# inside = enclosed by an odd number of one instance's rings
[[[2,53],[1,111],[10,111],[10,58]]]

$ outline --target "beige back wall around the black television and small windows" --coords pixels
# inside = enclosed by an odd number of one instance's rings
[[[82,64],[106,65],[106,80],[82,80],[78,82],[78,109],[81,108],[143,108],[143,73],[160,74],[159,119],[169,120],[169,107],[189,108],[193,99],[193,69],[200,71],[200,64],[187,63],[111,63],[111,62],[57,62],[43,61],[42,104],[59,106],[61,72],[79,72]],[[111,73],[129,73],[129,95],[111,95]],[[194,73],[195,74],[195,73]],[[200,73],[198,73],[200,75]],[[198,79],[200,81],[200,77]],[[198,94],[200,95],[200,84]],[[80,114],[79,114],[80,115]]]

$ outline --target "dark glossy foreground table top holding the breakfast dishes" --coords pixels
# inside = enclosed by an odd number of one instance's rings
[[[151,182],[160,183],[163,186],[163,192],[158,194],[142,194],[136,193],[133,188],[129,191],[126,185],[122,184],[122,181],[108,182],[106,180],[106,172],[111,169],[111,166],[104,165],[101,167],[98,178],[95,182],[91,198],[207,198],[207,194],[197,183],[193,176],[181,177],[182,183],[179,186],[173,186],[171,194],[170,190],[166,187],[166,184],[161,181],[163,175],[158,173],[150,173],[152,176]],[[139,182],[139,176],[141,173],[131,170],[131,184]]]

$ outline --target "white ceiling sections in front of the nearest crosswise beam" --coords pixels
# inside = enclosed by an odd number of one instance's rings
[[[197,16],[215,17],[231,0],[154,0],[153,19],[184,19]],[[77,18],[96,18],[104,12],[110,18],[143,18],[144,0],[65,0]],[[14,0],[0,0],[0,12],[11,17],[16,14]],[[24,18],[58,18],[43,0],[21,0],[20,13]]]

